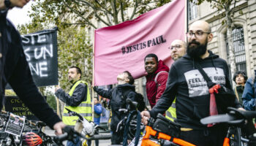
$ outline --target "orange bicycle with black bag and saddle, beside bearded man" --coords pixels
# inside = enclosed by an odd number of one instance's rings
[[[223,146],[233,146],[233,128],[241,128],[241,126],[246,123],[246,121],[252,121],[252,118],[256,117],[256,112],[254,111],[242,111],[237,110],[232,107],[228,107],[228,110],[230,110],[229,113],[225,115],[214,115],[209,116],[207,118],[201,119],[201,123],[203,124],[209,124],[209,123],[225,123],[228,126],[227,130],[227,136],[224,139]],[[157,122],[157,120],[159,120]],[[164,125],[164,126],[161,126]],[[175,132],[170,132],[170,129],[168,129],[168,126],[173,126],[172,129]],[[142,146],[159,146],[157,144],[158,139],[165,139],[170,142],[172,142],[172,145],[178,145],[178,146],[192,146],[193,144],[186,142],[182,139],[178,139],[178,134],[180,131],[178,131],[178,128],[181,126],[178,125],[178,123],[173,123],[170,120],[167,120],[163,115],[159,114],[157,115],[157,119],[149,118],[148,125],[146,126],[146,133],[143,136],[142,139]],[[241,137],[241,135],[238,136],[238,142],[239,145],[243,146],[244,143],[247,145],[256,145],[256,133],[255,133],[255,127],[252,125],[252,129],[254,129],[254,132],[249,133],[249,139],[246,139],[244,137]],[[241,133],[238,133],[241,134]],[[157,139],[154,142],[152,141],[152,138]],[[160,142],[160,145],[162,143]],[[195,145],[194,145],[195,146]]]

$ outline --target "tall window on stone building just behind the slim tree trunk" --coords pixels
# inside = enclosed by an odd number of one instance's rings
[[[246,72],[246,57],[244,48],[244,28],[236,27],[232,31],[232,39],[234,45],[234,53],[236,60],[236,70]],[[227,42],[227,35],[225,35],[227,45],[227,63],[230,64],[229,48]]]

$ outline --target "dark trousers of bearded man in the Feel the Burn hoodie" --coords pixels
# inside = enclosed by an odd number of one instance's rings
[[[181,131],[180,139],[197,146],[220,146],[223,145],[226,134],[225,126],[217,126],[206,130]]]

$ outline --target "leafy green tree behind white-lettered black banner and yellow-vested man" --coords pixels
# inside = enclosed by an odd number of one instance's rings
[[[20,34],[29,34],[36,31],[41,31],[47,28],[53,28],[53,20],[48,19],[45,22],[40,22],[39,18],[33,18],[31,23],[18,26]],[[92,46],[89,45],[89,38],[87,37],[84,27],[62,27],[58,30],[58,66],[59,66],[59,84],[61,88],[69,91],[72,85],[67,80],[67,71],[70,66],[79,66],[83,72],[83,80],[91,82],[92,78]],[[87,63],[87,64],[85,64]],[[85,69],[86,72],[85,72]],[[84,74],[85,73],[85,74]],[[39,91],[44,96],[48,96],[48,104],[54,108],[56,106],[53,94],[45,90],[45,87],[40,87]],[[62,109],[62,108],[61,108]]]

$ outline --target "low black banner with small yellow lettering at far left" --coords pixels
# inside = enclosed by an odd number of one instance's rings
[[[45,96],[46,100],[46,96]],[[12,112],[15,115],[22,117],[26,116],[29,120],[39,120],[26,105],[21,101],[18,96],[5,96],[4,97],[5,111]]]

